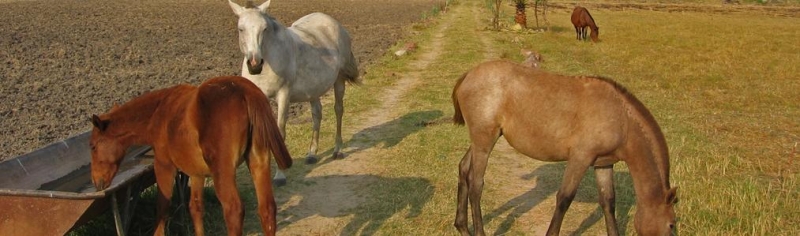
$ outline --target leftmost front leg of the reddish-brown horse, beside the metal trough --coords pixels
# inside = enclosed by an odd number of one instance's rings
[[[153,235],[164,235],[166,229],[167,217],[166,213],[169,208],[169,202],[172,200],[172,188],[175,184],[175,174],[177,169],[169,161],[168,158],[160,158],[158,150],[156,150],[156,162],[153,165],[156,176],[156,184],[158,185],[158,200],[156,206],[156,229]]]

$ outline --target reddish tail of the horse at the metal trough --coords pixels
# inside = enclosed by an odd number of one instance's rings
[[[269,106],[269,100],[255,84],[247,82],[249,85],[243,85],[243,89],[251,125],[252,145],[268,148],[275,156],[278,168],[285,170],[292,166],[292,156],[286,149],[283,136],[278,129],[278,122],[275,121],[272,108]]]

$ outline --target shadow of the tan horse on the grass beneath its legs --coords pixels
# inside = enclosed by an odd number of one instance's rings
[[[514,199],[511,199],[506,204],[503,204],[502,206],[489,212],[489,214],[485,215],[484,222],[487,224],[492,220],[503,220],[503,222],[500,223],[500,226],[497,227],[494,235],[506,234],[520,216],[526,212],[529,212],[536,205],[542,203],[551,195],[555,195],[555,193],[558,192],[558,189],[561,187],[560,180],[562,179],[565,167],[565,163],[546,164],[536,168],[530,174],[524,175],[522,177],[524,179],[535,179],[536,187],[528,192],[523,193],[522,195],[515,197]],[[597,184],[595,182],[593,172],[594,169],[592,168],[586,172],[586,175],[581,180],[578,194],[575,196],[574,201],[592,203],[598,202],[599,198],[597,195]],[[546,181],[548,179],[558,179],[559,181]],[[632,183],[631,176],[628,172],[614,172],[614,188],[617,193],[617,227],[621,233],[627,231],[628,221],[630,220],[628,217],[628,212],[633,206],[633,200],[632,197],[621,194],[623,192],[620,191],[620,186],[630,186]],[[551,208],[554,210],[555,206],[552,206]],[[505,219],[500,218],[500,215],[504,214],[505,212],[509,212],[508,216]],[[550,215],[550,217],[552,217],[552,215]],[[581,224],[578,226],[578,229],[575,232],[572,232],[572,235],[581,235],[585,233],[586,230],[588,230],[592,225],[598,222],[603,224],[603,228],[605,229],[603,211],[599,204],[597,204],[596,210],[581,222]],[[544,224],[544,222],[542,222],[542,224]]]

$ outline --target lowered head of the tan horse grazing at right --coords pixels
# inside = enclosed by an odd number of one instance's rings
[[[674,206],[677,203],[677,188],[667,191],[664,199],[636,203],[633,225],[639,235],[672,235],[676,228]]]

